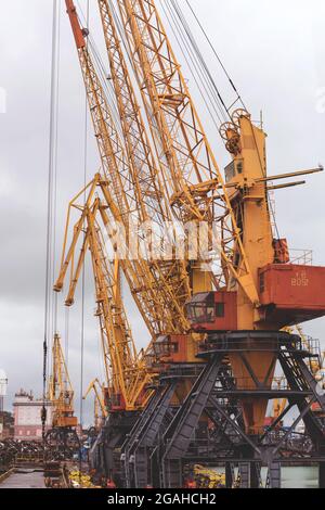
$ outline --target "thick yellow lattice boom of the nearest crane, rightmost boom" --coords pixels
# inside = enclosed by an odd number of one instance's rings
[[[206,260],[196,260],[192,267],[193,292],[210,290],[212,283],[226,285],[232,276],[256,307],[258,292],[224,179],[155,2],[117,3],[152,137],[164,151],[162,178],[173,214],[183,225],[207,221],[218,230],[220,270],[207,278]],[[206,186],[211,180],[212,189]],[[235,253],[240,257],[239,265],[234,264]]]

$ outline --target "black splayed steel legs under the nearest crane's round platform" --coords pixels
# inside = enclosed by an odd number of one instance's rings
[[[218,337],[214,337],[214,349],[212,349],[212,343],[207,345],[209,350],[203,353],[207,359],[206,368],[154,450],[152,466],[155,470],[153,473],[155,485],[170,488],[182,487],[184,468],[199,462],[208,466],[223,464],[226,468],[227,486],[243,488],[262,487],[261,468],[266,467],[265,487],[280,488],[281,466],[287,459],[284,454],[288,451],[290,451],[290,461],[294,463],[300,462],[302,455],[304,462],[311,464],[317,462],[320,485],[323,485],[324,425],[313,415],[311,405],[317,401],[325,412],[325,400],[318,394],[316,381],[304,361],[310,357],[310,353],[301,346],[299,337],[274,333],[273,348],[277,352],[278,361],[287,377],[288,388],[280,391],[268,387],[266,383],[264,385],[259,383],[256,388],[243,391],[226,382],[224,360],[231,350],[231,334],[226,340],[224,342],[223,337],[218,344]],[[236,343],[233,345],[239,348],[239,344],[236,336]],[[263,395],[269,400],[286,395],[289,404],[283,417],[297,406],[297,420],[287,432],[278,432],[275,422],[262,435],[248,435],[243,428],[240,416],[234,416],[234,401],[238,404],[244,395],[252,399]],[[226,405],[230,401],[232,406]],[[216,426],[216,436],[204,443],[199,426],[200,420],[206,416],[210,417],[218,426]],[[307,438],[304,443],[291,444],[294,431],[302,420],[312,446]],[[227,441],[224,439],[225,437]],[[237,481],[234,467],[238,468]]]

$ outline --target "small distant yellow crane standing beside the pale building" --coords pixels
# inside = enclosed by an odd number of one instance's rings
[[[53,429],[70,429],[78,425],[78,420],[75,417],[74,396],[61,339],[58,334],[55,334],[52,348],[52,373],[48,388],[48,398],[53,405]]]

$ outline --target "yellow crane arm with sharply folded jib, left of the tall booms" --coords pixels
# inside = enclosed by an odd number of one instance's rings
[[[101,329],[108,409],[113,411],[132,411],[143,408],[151,397],[152,393],[146,390],[146,386],[151,382],[152,375],[146,369],[144,353],[136,353],[122,304],[119,262],[108,259],[105,241],[98,222],[100,215],[104,215],[106,209],[106,205],[102,204],[98,196],[94,196],[101,182],[101,176],[96,175],[94,180],[87,187],[89,194],[86,203],[83,205],[78,204],[79,196],[86,192],[86,190],[82,190],[69,205],[62,267],[54,290],[56,292],[62,291],[70,268],[66,305],[72,306],[74,304],[76,288],[86,254],[89,251],[98,306],[95,315],[99,317]],[[68,246],[67,237],[73,208],[81,212],[81,216],[74,226],[72,243]],[[80,254],[77,255],[76,251],[80,240],[82,246]]]

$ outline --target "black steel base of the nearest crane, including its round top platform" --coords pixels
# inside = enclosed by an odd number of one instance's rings
[[[209,335],[200,353],[205,365],[198,377],[193,374],[192,390],[179,408],[171,404],[171,396],[184,377],[184,367],[173,367],[161,377],[156,395],[122,448],[126,486],[181,488],[199,463],[223,468],[227,487],[280,488],[282,466],[302,462],[320,466],[320,486],[324,485],[325,426],[312,405],[317,403],[324,415],[325,397],[308,367],[315,354],[297,335],[249,332],[260,340],[264,334],[268,337],[269,347],[261,342],[261,352],[270,348],[273,335],[272,352],[276,352],[287,385],[270,388],[259,383],[253,388],[238,388],[227,359],[234,348],[240,349],[247,333]],[[268,400],[286,398],[288,406],[261,434],[247,434],[240,399],[261,396]],[[280,429],[294,407],[297,420],[289,429]],[[306,434],[295,432],[300,422],[304,422]],[[263,480],[262,468],[268,471]]]

